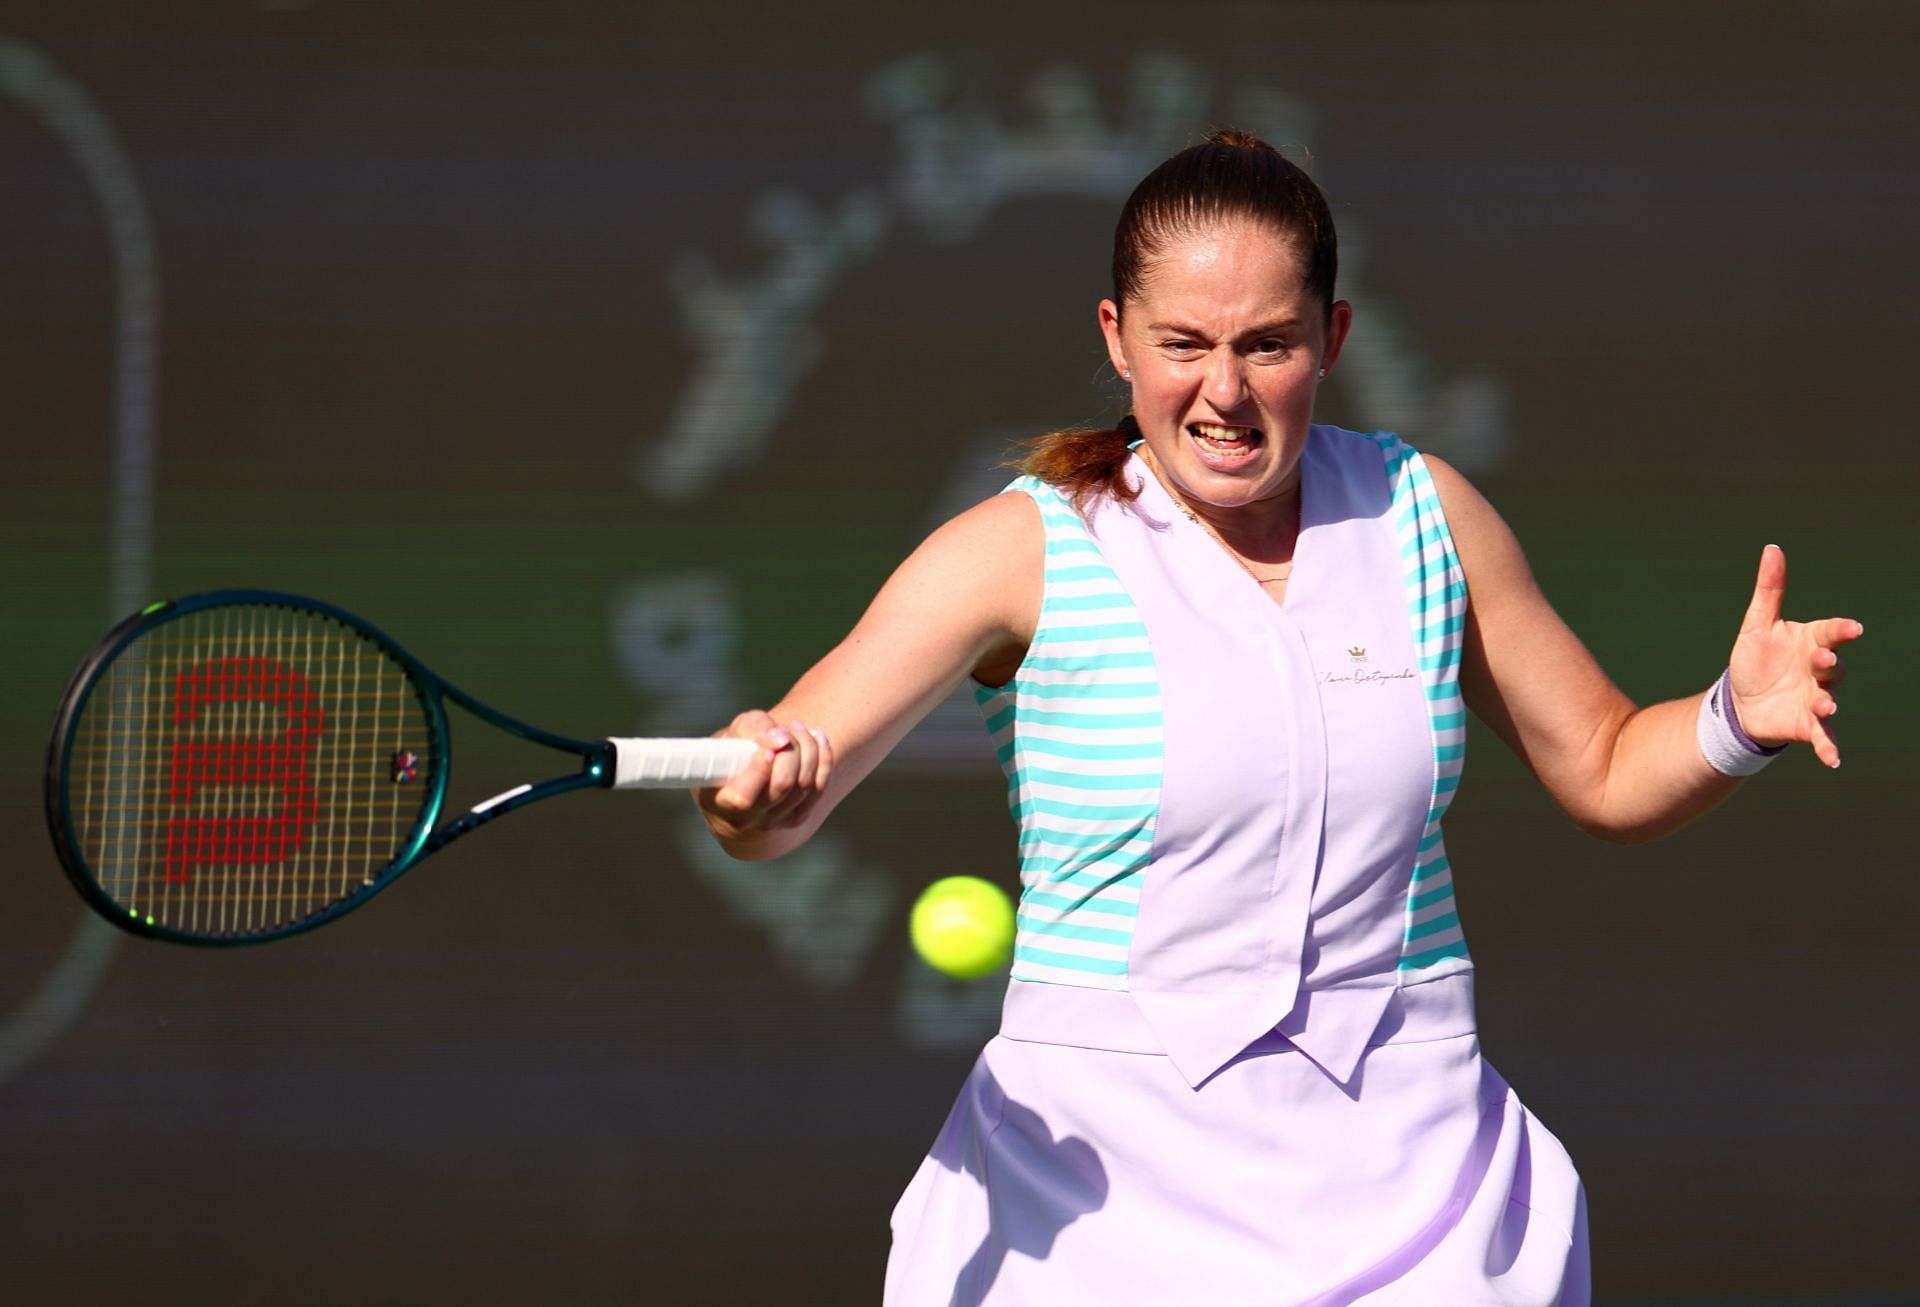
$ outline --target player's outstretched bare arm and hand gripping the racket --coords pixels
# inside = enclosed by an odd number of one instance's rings
[[[735,858],[804,844],[879,760],[968,676],[1000,683],[1020,666],[1041,608],[1044,532],[1033,499],[996,495],[929,535],[866,614],[768,712],[720,735],[762,752],[724,787],[697,793]]]

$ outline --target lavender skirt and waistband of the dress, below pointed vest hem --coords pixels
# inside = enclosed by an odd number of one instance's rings
[[[1586,1200],[1478,1034],[1336,1084],[1279,1034],[1160,1054],[996,1036],[893,1211],[885,1307],[1586,1307]]]

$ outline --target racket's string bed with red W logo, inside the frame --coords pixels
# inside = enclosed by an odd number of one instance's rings
[[[121,910],[261,935],[371,885],[440,768],[407,670],[321,612],[228,605],[156,626],[94,683],[67,806]]]

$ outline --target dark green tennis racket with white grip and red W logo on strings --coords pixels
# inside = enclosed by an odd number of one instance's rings
[[[453,702],[572,754],[442,823]],[[86,656],[54,720],[46,821],[81,896],[136,935],[280,939],[428,854],[574,789],[710,785],[743,739],[578,741],[516,722],[332,605],[225,589],[150,605]]]

